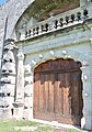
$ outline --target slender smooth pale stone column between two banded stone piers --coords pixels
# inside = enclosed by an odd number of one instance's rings
[[[16,96],[14,105],[14,117],[23,119],[24,117],[24,55],[22,51],[18,53],[18,74],[16,74]],[[18,111],[18,112],[16,112]]]

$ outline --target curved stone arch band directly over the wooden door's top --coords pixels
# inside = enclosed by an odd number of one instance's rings
[[[43,57],[42,59],[35,58],[34,64],[31,66],[32,73],[34,73],[34,69],[39,64],[45,63],[45,62],[47,62],[49,59],[56,59],[56,58],[65,58],[66,59],[66,58],[71,58],[71,59],[73,59],[76,62],[80,62],[81,64],[83,64],[83,62],[88,62],[89,59],[91,59],[91,58],[89,58],[88,55],[84,55],[82,52],[76,51],[73,48],[72,50],[62,50],[61,52],[64,52],[64,51],[67,52],[66,55],[62,54],[62,53],[58,55],[58,51],[56,51],[55,55],[53,55],[53,56],[49,54],[48,56],[46,56],[45,58]]]

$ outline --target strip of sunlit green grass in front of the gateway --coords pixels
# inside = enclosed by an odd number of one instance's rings
[[[27,130],[27,128],[33,128],[34,130]],[[22,121],[0,120],[0,132],[57,132],[57,131],[54,131],[53,127],[26,120]],[[65,132],[92,132],[92,131],[65,129]]]

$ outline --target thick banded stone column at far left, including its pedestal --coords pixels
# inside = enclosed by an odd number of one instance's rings
[[[18,47],[14,40],[5,40],[2,51],[2,67],[0,78],[0,92],[3,95],[0,100],[0,106],[1,109],[3,109],[2,118],[4,119],[12,117],[11,109],[13,109],[12,105],[14,102],[16,54]]]

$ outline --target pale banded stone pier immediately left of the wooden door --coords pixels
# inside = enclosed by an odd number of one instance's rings
[[[27,113],[25,112],[25,118],[27,120],[33,119],[33,73],[31,70],[31,65],[25,65],[25,107],[27,108]]]

